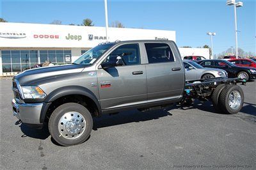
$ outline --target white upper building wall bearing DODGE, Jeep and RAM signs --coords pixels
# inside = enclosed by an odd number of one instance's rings
[[[109,27],[109,41],[173,40],[175,31]],[[0,47],[92,48],[106,42],[105,27],[0,22]]]

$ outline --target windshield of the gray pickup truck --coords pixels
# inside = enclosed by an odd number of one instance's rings
[[[114,44],[107,43],[103,45],[98,45],[93,49],[88,50],[79,59],[77,59],[74,63],[75,65],[92,65],[98,58],[102,56],[102,54],[110,49]]]

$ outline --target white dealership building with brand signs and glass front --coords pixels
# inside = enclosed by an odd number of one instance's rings
[[[108,38],[115,40],[173,40],[175,31],[109,27]],[[0,75],[22,72],[51,61],[72,63],[86,50],[106,42],[105,27],[64,26],[0,22]],[[182,57],[209,58],[209,49],[180,48]]]

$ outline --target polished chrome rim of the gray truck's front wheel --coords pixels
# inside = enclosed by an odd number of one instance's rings
[[[79,112],[66,112],[58,123],[60,136],[66,139],[80,137],[86,128],[84,116]]]

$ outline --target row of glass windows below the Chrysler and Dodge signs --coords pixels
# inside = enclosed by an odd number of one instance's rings
[[[63,65],[65,56],[71,56],[71,50],[1,50],[3,73],[22,72],[42,64],[45,61],[54,65]]]

